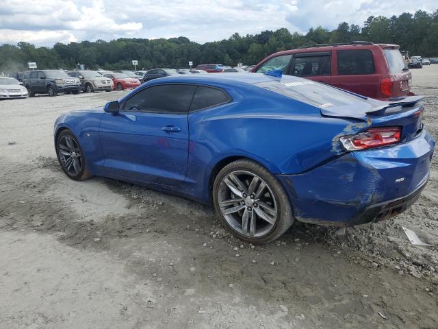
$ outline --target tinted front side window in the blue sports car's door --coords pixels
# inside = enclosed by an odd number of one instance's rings
[[[164,84],[152,86],[127,99],[127,111],[187,114],[196,86]]]

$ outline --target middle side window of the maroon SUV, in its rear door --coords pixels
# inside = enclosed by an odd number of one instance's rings
[[[330,56],[300,56],[294,60],[292,75],[309,77],[330,75]]]

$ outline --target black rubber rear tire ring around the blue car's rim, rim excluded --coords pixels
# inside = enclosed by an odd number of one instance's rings
[[[259,178],[261,178],[266,184],[268,184],[272,194],[276,200],[276,208],[277,208],[277,218],[274,223],[274,226],[270,230],[270,232],[261,238],[250,238],[249,236],[245,236],[236,232],[231,228],[227,220],[223,217],[222,212],[220,211],[220,207],[218,204],[218,191],[220,187],[220,182],[226,177],[229,173],[233,171],[249,171],[251,173],[255,173]],[[212,191],[212,199],[214,203],[214,208],[218,213],[218,217],[222,225],[224,225],[229,232],[233,235],[237,236],[237,238],[242,239],[244,241],[256,244],[269,243],[278,238],[287,228],[289,228],[294,222],[294,217],[292,214],[292,206],[289,202],[289,198],[287,197],[287,193],[285,192],[283,186],[275,178],[272,173],[268,171],[265,167],[261,166],[257,162],[251,160],[237,160],[235,162],[231,162],[225,166],[219,173],[216,175],[213,185]]]

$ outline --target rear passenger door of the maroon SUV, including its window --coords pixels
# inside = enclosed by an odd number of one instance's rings
[[[330,84],[331,51],[296,53],[287,74]]]

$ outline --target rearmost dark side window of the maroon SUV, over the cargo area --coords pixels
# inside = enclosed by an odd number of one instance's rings
[[[369,49],[338,50],[338,75],[373,74],[376,71],[372,51]]]

